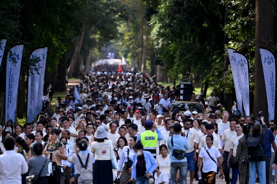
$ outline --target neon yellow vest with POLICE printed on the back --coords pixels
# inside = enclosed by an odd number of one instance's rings
[[[143,145],[143,149],[150,151],[151,154],[156,157],[156,147],[158,142],[158,134],[151,130],[146,130],[140,134],[140,141]]]

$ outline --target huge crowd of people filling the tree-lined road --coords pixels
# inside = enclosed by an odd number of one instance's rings
[[[221,112],[213,94],[191,97],[204,113],[170,109],[178,86],[117,67],[94,68],[76,86],[81,99],[70,86],[55,110],[50,85],[34,124],[0,126],[0,183],[184,184],[188,171],[190,184],[216,183],[216,174],[227,184],[277,183],[274,120],[244,117],[236,103]]]

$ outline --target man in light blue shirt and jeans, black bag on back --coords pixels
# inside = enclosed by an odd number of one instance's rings
[[[174,135],[167,139],[168,149],[170,150],[170,178],[169,184],[174,184],[176,180],[176,174],[178,169],[180,169],[180,179],[181,184],[187,183],[187,172],[188,172],[188,163],[187,158],[176,158],[173,156],[173,150],[189,150],[190,146],[188,145],[188,140],[186,137],[181,136],[182,126],[177,123],[173,126]]]

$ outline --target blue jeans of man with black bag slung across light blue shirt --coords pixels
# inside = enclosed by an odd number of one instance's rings
[[[187,172],[188,172],[188,163],[187,162],[172,162],[170,163],[170,177],[169,184],[174,184],[176,180],[176,174],[178,169],[180,169],[180,180],[181,184],[187,183]]]

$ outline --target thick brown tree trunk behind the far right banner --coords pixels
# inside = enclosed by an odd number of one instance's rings
[[[256,0],[255,19],[255,89],[253,115],[263,111],[268,118],[267,95],[265,90],[264,72],[260,55],[260,47],[273,50],[274,45],[274,16],[271,0]],[[268,120],[268,119],[267,119]]]

